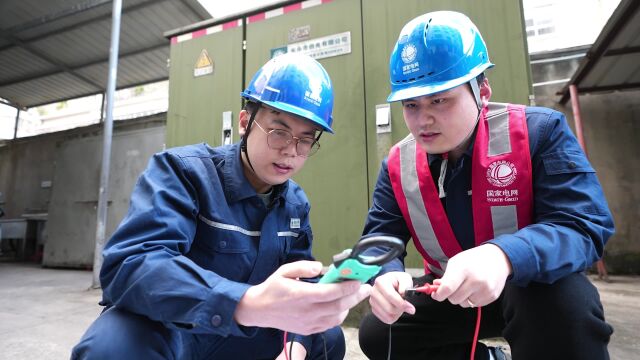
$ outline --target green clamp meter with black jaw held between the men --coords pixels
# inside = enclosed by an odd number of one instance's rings
[[[362,253],[372,247],[386,247],[388,250],[380,256],[363,256]],[[353,249],[347,249],[333,257],[333,264],[319,283],[328,284],[345,280],[358,280],[366,283],[376,276],[381,265],[398,257],[404,252],[404,242],[393,236],[364,236]]]

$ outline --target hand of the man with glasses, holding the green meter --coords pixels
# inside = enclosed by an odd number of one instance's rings
[[[312,284],[297,280],[318,276],[321,271],[322,264],[316,261],[282,265],[263,283],[247,290],[238,303],[235,320],[244,326],[301,335],[342,324],[349,309],[369,296],[371,286],[357,281]]]

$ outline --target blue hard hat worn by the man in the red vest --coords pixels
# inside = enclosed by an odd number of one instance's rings
[[[400,32],[389,59],[387,101],[446,91],[492,66],[478,28],[466,15],[430,12],[411,20]]]

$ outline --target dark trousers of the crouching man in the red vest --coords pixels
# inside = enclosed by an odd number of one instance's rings
[[[431,281],[427,275],[414,282]],[[363,318],[359,342],[367,357],[387,359],[391,347],[391,359],[469,359],[476,308],[422,294],[407,300],[416,307],[415,315],[403,314],[391,326],[372,313]],[[600,360],[609,359],[612,333],[597,289],[584,274],[575,273],[553,284],[507,283],[496,301],[482,307],[478,338],[504,337],[516,360]],[[475,359],[489,359],[482,343],[477,344]]]

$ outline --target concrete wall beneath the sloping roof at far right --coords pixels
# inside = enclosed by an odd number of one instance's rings
[[[548,54],[559,58],[584,52],[575,49]],[[580,58],[536,63],[534,85],[570,78]],[[556,91],[564,84],[534,86],[536,103],[562,111],[575,131],[571,103],[562,106]],[[640,273],[640,91],[586,94],[580,98],[583,133],[589,160],[598,173],[616,224],[605,248],[610,272]]]

